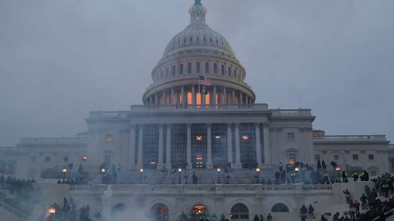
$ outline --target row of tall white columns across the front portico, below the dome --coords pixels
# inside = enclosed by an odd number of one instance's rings
[[[241,148],[240,148],[240,123],[235,124],[235,168],[242,168],[241,164]],[[262,153],[261,153],[261,141],[260,141],[260,124],[255,123],[255,133],[256,133],[256,159],[258,165],[261,167],[263,166],[263,162],[261,160]],[[161,169],[163,164],[163,157],[166,159],[166,168],[171,168],[171,123],[165,124],[167,127],[166,130],[166,155],[163,156],[163,127],[164,124],[159,124],[159,147],[158,147],[158,162],[157,168]],[[186,142],[186,162],[188,163],[188,168],[192,168],[192,161],[191,161],[191,123],[187,123],[187,142]],[[233,123],[227,123],[227,159],[228,162],[233,162],[233,142],[232,142],[232,125]],[[269,135],[269,125],[268,123],[263,123],[264,125],[264,165],[271,164],[271,152],[270,152],[270,135]],[[212,163],[212,123],[207,123],[207,169],[213,168]],[[130,128],[130,164],[136,165],[137,167],[143,166],[143,141],[144,141],[144,125],[138,124],[138,158],[137,162],[135,162],[134,153],[135,153],[135,130],[136,124],[132,125]]]

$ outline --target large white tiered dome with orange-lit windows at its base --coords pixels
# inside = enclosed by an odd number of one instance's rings
[[[244,82],[246,70],[230,43],[206,22],[207,9],[195,0],[190,23],[165,47],[151,72],[153,84],[143,95],[145,105],[252,104],[254,91]],[[199,78],[212,81],[199,91]],[[200,85],[201,86],[201,85]]]

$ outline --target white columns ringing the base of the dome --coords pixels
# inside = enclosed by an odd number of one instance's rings
[[[198,85],[191,85],[191,90],[187,90],[187,91],[185,90],[185,86],[180,86],[180,87],[172,87],[170,90],[162,90],[160,92],[156,92],[145,101],[145,104],[146,105],[175,105],[179,103],[186,104],[187,93],[191,92],[190,105],[196,105],[196,96],[199,91],[196,91],[195,87],[198,87]],[[236,96],[236,90],[233,88],[212,86],[212,89],[209,89],[208,91],[210,92],[209,104],[211,105],[236,104],[237,99],[238,99],[238,104],[253,103],[252,98],[240,90],[237,92],[238,96]],[[218,103],[216,103],[216,94],[219,94]],[[179,101],[178,98],[180,95],[182,100]],[[170,99],[168,99],[169,102],[167,102],[168,96],[170,96]],[[206,95],[201,93],[202,105],[207,104],[207,102],[205,102],[205,99],[206,99]]]

